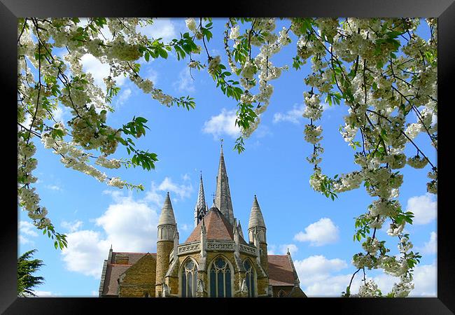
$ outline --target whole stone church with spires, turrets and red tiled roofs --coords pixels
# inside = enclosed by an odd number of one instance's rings
[[[195,228],[181,243],[167,193],[156,253],[116,252],[111,246],[99,297],[306,297],[290,253],[267,254],[267,228],[256,196],[245,239],[232,210],[223,145],[214,204],[207,206],[201,175],[194,215]]]

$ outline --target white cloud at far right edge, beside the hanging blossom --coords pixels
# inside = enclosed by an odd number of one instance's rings
[[[437,216],[437,202],[435,197],[430,193],[410,197],[407,200],[406,209],[414,213],[414,218],[412,219],[414,224],[430,223]]]

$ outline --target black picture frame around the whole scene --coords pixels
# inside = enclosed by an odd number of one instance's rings
[[[1,83],[5,91],[1,104],[11,111],[3,124],[6,125],[8,149],[17,150],[15,126],[13,119],[17,111],[12,104],[17,102],[17,19],[25,17],[187,17],[187,16],[282,16],[282,17],[433,17],[438,18],[438,98],[443,105],[438,115],[440,139],[443,152],[437,156],[439,169],[439,193],[437,198],[437,297],[408,297],[408,298],[338,298],[321,297],[308,299],[246,299],[242,304],[251,304],[247,309],[231,309],[230,311],[257,311],[256,307],[269,303],[277,305],[283,311],[309,312],[316,309],[323,313],[337,314],[454,314],[455,311],[455,251],[454,234],[451,233],[451,211],[449,204],[449,189],[445,186],[449,174],[449,153],[451,141],[449,135],[450,105],[454,102],[451,96],[450,78],[455,67],[455,3],[454,0],[356,0],[356,1],[237,1],[218,3],[218,1],[187,1],[177,3],[172,1],[139,1],[139,0],[0,0],[0,73]],[[11,131],[10,131],[11,130]],[[5,144],[6,145],[6,144]],[[10,148],[9,148],[10,146]],[[10,151],[8,151],[10,152]],[[17,209],[15,189],[15,163],[12,153],[3,158],[3,169],[11,170],[6,181],[7,198],[4,199],[3,224],[0,229],[0,311],[4,314],[82,314],[85,311],[94,312],[99,309],[102,314],[126,314],[144,311],[174,312],[175,306],[181,306],[188,311],[200,311],[200,299],[97,299],[83,297],[17,297],[17,258],[18,258],[18,216],[12,209]],[[444,207],[445,206],[445,207]],[[152,302],[153,301],[153,302]],[[216,311],[220,302],[240,302],[239,299],[207,300],[204,299],[207,311]],[[193,307],[194,304],[194,307]],[[292,305],[291,305],[292,304]],[[148,309],[148,308],[151,309]],[[223,307],[224,308],[224,307]],[[148,310],[147,310],[148,309]],[[97,311],[99,312],[99,311]],[[89,314],[90,314],[89,313]]]

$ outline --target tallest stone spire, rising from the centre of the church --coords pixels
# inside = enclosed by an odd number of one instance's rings
[[[221,143],[220,165],[218,167],[218,176],[216,176],[215,205],[228,221],[234,225],[234,213],[232,211],[228,173],[224,162],[223,143]]]

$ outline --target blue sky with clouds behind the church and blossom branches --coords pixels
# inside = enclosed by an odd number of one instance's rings
[[[286,23],[287,24],[287,23]],[[214,38],[209,42],[211,55],[223,54],[222,32],[225,20],[214,19]],[[284,22],[278,22],[281,29]],[[165,39],[185,32],[184,19],[163,19],[148,27],[146,34]],[[428,32],[420,31],[424,36]],[[428,37],[425,37],[428,38]],[[293,37],[295,40],[295,36]],[[167,60],[142,61],[141,74],[151,78],[155,86],[174,96],[190,94],[196,109],[162,106],[143,94],[128,80],[119,80],[121,87],[113,99],[116,109],[109,113],[108,123],[120,127],[133,116],[148,119],[146,137],[138,139],[139,148],[158,154],[155,170],[106,170],[108,176],[120,176],[130,183],[142,183],[144,192],[112,188],[85,174],[66,169],[57,155],[37,144],[38,177],[36,189],[41,204],[59,232],[68,235],[68,248],[55,250],[52,242],[31,226],[23,211],[19,214],[19,253],[38,248],[35,257],[44,261],[40,275],[45,283],[36,291],[39,296],[97,296],[103,260],[112,244],[114,251],[150,251],[156,249],[156,225],[167,191],[179,227],[180,241],[194,228],[193,211],[197,200],[199,176],[202,171],[206,200],[211,205],[215,192],[220,139],[224,139],[225,162],[230,179],[232,206],[247,235],[248,218],[253,195],[258,196],[267,225],[269,253],[283,254],[289,248],[300,277],[300,286],[309,296],[339,296],[356,270],[351,265],[354,253],[360,252],[359,242],[353,242],[353,218],[365,213],[372,202],[363,188],[339,194],[332,201],[309,186],[311,165],[306,157],[312,146],[303,139],[303,96],[308,90],[303,78],[309,71],[306,64],[299,71],[292,69],[295,41],[283,48],[272,62],[290,69],[272,82],[274,94],[261,117],[260,127],[246,140],[246,151],[232,151],[237,138],[235,106],[216,89],[207,71],[188,72],[188,60],[177,61],[172,54]],[[204,57],[204,55],[202,55]],[[202,62],[206,60],[201,59]],[[101,80],[106,65],[94,58],[83,58],[84,69],[95,80]],[[357,169],[353,150],[338,132],[346,106],[325,106],[323,126],[323,162],[321,167],[330,176]],[[66,122],[69,112],[60,109],[58,116]],[[414,118],[412,118],[414,119]],[[416,141],[430,160],[436,161],[435,151],[423,135]],[[412,153],[414,149],[409,149]],[[127,156],[123,148],[114,155]],[[399,200],[402,207],[414,211],[414,225],[407,226],[414,249],[423,255],[415,272],[412,295],[436,295],[436,198],[426,193],[425,169],[409,166],[401,169],[404,183]],[[386,225],[384,225],[386,227]],[[392,253],[396,244],[383,228],[377,234],[387,241]],[[393,241],[393,243],[391,243]],[[379,272],[367,272],[386,293],[394,279]],[[358,277],[360,280],[360,277]],[[354,281],[353,288],[358,287]]]

